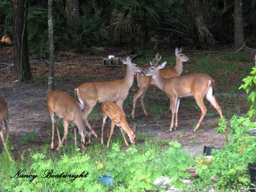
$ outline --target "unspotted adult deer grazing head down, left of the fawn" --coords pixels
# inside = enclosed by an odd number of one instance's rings
[[[59,146],[57,150],[60,150],[60,147],[65,139],[67,139],[68,134],[68,125],[76,125],[78,128],[79,133],[81,134],[81,143],[83,147],[83,151],[90,144],[90,134],[86,132],[85,124],[83,121],[83,114],[82,110],[76,100],[72,97],[67,95],[66,93],[53,91],[49,93],[46,97],[47,105],[49,108],[51,120],[52,120],[52,143],[51,148],[54,147],[53,145],[53,138],[54,138],[54,116],[56,116],[56,129],[58,133],[59,139]],[[64,136],[63,139],[60,140],[60,133],[58,129],[58,123],[60,122],[61,118],[63,119],[63,127],[64,127]],[[76,128],[74,128],[75,132],[75,144],[76,144]]]

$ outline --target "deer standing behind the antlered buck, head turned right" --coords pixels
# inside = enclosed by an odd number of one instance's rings
[[[160,70],[160,74],[164,78],[170,78],[175,76],[180,76],[182,73],[182,62],[190,61],[190,59],[182,53],[182,47],[180,49],[175,49],[175,56],[176,56],[176,65],[173,68],[162,69]],[[151,76],[141,76],[140,73],[136,74],[136,79],[140,90],[134,95],[133,97],[133,107],[132,107],[132,118],[134,118],[134,111],[136,107],[136,102],[138,98],[140,98],[141,106],[143,108],[144,114],[148,116],[147,111],[144,106],[143,97],[145,92],[147,91],[148,86],[150,84],[154,84],[154,81]]]

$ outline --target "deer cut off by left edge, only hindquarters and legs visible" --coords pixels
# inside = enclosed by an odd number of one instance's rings
[[[6,153],[8,155],[8,158],[10,161],[12,160],[12,157],[10,156],[9,152],[8,152],[8,148],[6,147],[6,143],[4,140],[4,131],[3,131],[3,121],[4,121],[4,125],[5,125],[5,129],[10,141],[10,146],[11,146],[11,150],[13,150],[13,145],[12,145],[12,141],[10,138],[10,133],[9,133],[9,128],[8,128],[8,124],[9,124],[9,113],[8,113],[8,106],[6,101],[3,99],[3,97],[0,96],[0,132],[1,132],[1,138],[2,138],[2,142],[4,145],[4,148],[6,149]]]

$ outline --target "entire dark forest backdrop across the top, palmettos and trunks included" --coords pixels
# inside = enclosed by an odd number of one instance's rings
[[[255,47],[256,0],[1,0],[0,29],[13,42],[16,76],[31,79],[28,58],[51,51]]]

